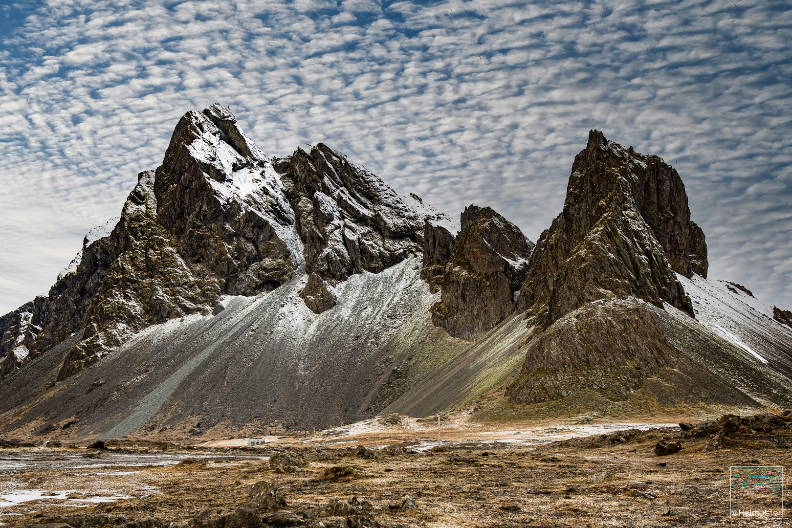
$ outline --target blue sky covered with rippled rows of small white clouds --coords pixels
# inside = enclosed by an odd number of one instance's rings
[[[0,313],[48,291],[190,109],[326,142],[536,240],[588,130],[679,171],[710,277],[792,308],[788,0],[26,0],[0,6]]]

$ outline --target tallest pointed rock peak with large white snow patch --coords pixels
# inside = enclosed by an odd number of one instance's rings
[[[158,222],[185,260],[230,295],[270,291],[293,277],[291,252],[276,233],[293,215],[278,191],[264,154],[219,104],[181,118],[154,179]]]

